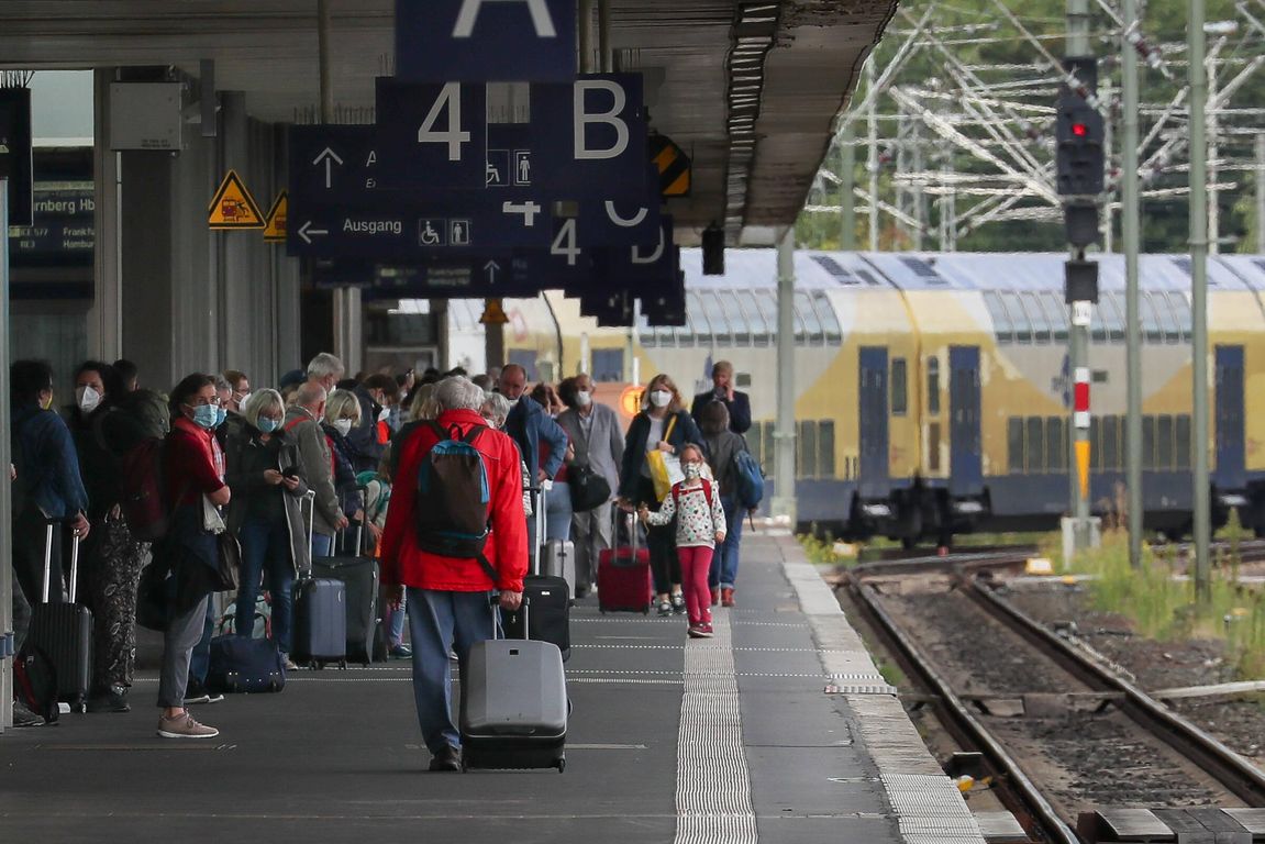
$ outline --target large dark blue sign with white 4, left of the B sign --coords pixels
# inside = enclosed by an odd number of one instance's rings
[[[487,178],[487,89],[377,80],[377,152],[391,187],[481,189]]]

